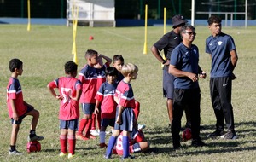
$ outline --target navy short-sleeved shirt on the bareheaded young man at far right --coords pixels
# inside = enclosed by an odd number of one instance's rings
[[[206,53],[212,55],[211,78],[230,77],[233,65],[230,61],[230,51],[236,49],[233,38],[221,33],[206,40]]]

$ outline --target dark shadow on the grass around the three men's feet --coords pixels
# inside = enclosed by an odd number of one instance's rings
[[[177,154],[178,156],[189,154],[211,154],[211,153],[230,153],[240,151],[252,151],[256,150],[256,147],[251,147],[253,142],[253,136],[256,136],[256,122],[247,121],[236,123],[236,134],[238,139],[236,140],[224,140],[224,139],[209,139],[207,135],[215,130],[215,125],[202,125],[201,138],[203,141],[207,141],[207,146],[201,148],[195,148],[191,151],[190,142],[181,142],[182,148],[174,150],[172,148],[172,135],[170,128],[166,127],[154,127],[144,130],[145,136],[152,145],[156,145],[157,148],[154,153],[172,153],[172,156]],[[226,130],[226,128],[225,128]],[[209,148],[209,149],[206,149]],[[179,153],[180,152],[180,153]],[[150,152],[149,152],[150,153]]]

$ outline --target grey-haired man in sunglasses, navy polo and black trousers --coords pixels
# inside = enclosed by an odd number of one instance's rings
[[[169,72],[175,77],[172,120],[173,148],[181,146],[179,132],[185,108],[189,109],[191,118],[192,146],[202,147],[206,145],[199,136],[201,92],[198,84],[198,76],[206,78],[206,72],[203,72],[198,65],[198,48],[192,44],[195,35],[194,26],[183,26],[181,29],[183,42],[173,49],[171,55]]]

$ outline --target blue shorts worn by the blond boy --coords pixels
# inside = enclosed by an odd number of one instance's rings
[[[116,118],[119,114],[119,108],[116,108]],[[133,130],[133,124],[135,120],[135,115],[133,113],[132,108],[125,108],[122,112],[122,124],[114,124],[114,130],[125,130],[125,131],[132,131]]]

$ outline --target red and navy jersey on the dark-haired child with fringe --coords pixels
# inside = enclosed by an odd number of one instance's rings
[[[114,119],[117,103],[113,99],[117,85],[105,82],[96,93],[95,99],[101,102],[102,119]]]

